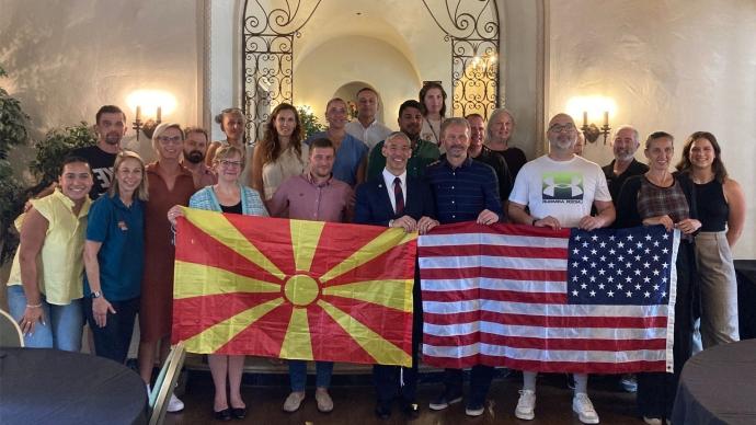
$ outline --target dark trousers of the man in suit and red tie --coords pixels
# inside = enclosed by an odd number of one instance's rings
[[[373,366],[373,380],[376,384],[378,403],[380,404],[391,404],[391,401],[398,394],[401,395],[403,403],[415,402],[415,393],[417,391],[417,359],[423,342],[423,300],[421,298],[420,279],[417,276],[412,288],[412,367]]]

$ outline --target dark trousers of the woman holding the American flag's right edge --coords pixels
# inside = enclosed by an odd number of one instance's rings
[[[638,409],[646,417],[671,417],[683,366],[692,352],[696,264],[692,244],[680,242],[677,253],[677,301],[675,303],[674,371],[638,374]]]

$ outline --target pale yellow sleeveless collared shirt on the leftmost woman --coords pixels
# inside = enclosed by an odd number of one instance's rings
[[[91,205],[89,197],[73,215],[73,200],[56,188],[50,195],[32,199],[34,209],[47,220],[47,234],[37,255],[37,285],[47,302],[68,306],[83,296],[84,234]],[[16,220],[20,225],[22,220]],[[20,226],[19,226],[20,227]],[[21,285],[21,264],[15,253],[8,286]]]

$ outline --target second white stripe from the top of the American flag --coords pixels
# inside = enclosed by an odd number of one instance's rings
[[[421,268],[492,267],[526,271],[566,271],[566,259],[524,259],[499,255],[425,256]]]

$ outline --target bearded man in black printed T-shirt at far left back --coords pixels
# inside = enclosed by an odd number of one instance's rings
[[[94,184],[89,197],[96,199],[107,192],[113,181],[113,163],[121,151],[121,139],[126,134],[126,114],[118,106],[105,105],[95,116],[98,145],[76,149],[72,154],[89,162],[94,176]]]

